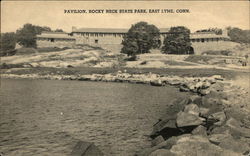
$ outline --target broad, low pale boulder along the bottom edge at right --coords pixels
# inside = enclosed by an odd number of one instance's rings
[[[192,135],[181,137],[177,140],[176,145],[173,145],[170,152],[181,156],[239,156],[231,150],[222,149],[209,142],[206,137],[200,135]]]

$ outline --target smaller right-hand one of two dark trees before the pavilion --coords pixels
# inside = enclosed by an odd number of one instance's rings
[[[190,54],[190,30],[183,26],[171,27],[163,41],[162,53]]]

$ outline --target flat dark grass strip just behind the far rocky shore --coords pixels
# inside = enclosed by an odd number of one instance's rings
[[[243,71],[231,71],[223,69],[173,69],[173,68],[124,68],[124,67],[115,67],[115,68],[96,68],[96,67],[74,67],[74,68],[49,68],[49,67],[37,67],[37,68],[27,68],[22,70],[13,70],[12,74],[61,74],[61,75],[86,75],[86,74],[107,74],[115,73],[119,70],[126,70],[130,74],[138,73],[155,73],[160,75],[177,75],[177,76],[188,76],[188,77],[204,77],[212,75],[222,75],[227,79],[233,79],[239,75],[249,75],[249,72]],[[1,73],[4,73],[5,70],[1,70]]]

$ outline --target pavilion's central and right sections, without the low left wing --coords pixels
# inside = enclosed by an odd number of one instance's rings
[[[160,29],[160,40],[163,43],[164,38],[169,34],[170,29]],[[121,43],[128,29],[107,29],[107,28],[80,28],[72,27],[72,36],[76,38],[76,44],[99,45],[101,47],[122,47]],[[222,34],[215,32],[195,32],[190,34],[190,41],[195,54],[209,50],[225,50],[228,47],[235,46],[227,35],[227,31]]]

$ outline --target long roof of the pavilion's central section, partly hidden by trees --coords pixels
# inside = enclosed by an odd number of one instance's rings
[[[86,33],[127,33],[129,29],[120,28],[80,28],[72,32],[86,32]],[[160,28],[160,32],[168,32],[169,28]]]

